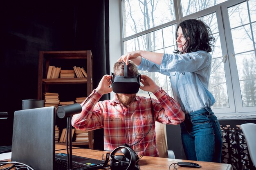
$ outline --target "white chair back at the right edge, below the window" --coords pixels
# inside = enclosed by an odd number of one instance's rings
[[[254,164],[254,167],[256,167],[256,124],[241,124],[241,129],[245,135],[245,140],[249,150],[249,155],[252,159],[252,163]]]

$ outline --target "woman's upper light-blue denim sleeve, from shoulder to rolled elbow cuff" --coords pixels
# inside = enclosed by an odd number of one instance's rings
[[[211,64],[211,54],[205,51],[164,54],[160,72],[197,72],[209,64]]]

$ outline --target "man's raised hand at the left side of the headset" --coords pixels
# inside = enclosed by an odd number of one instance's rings
[[[101,81],[99,82],[99,85],[96,88],[96,90],[101,95],[108,94],[108,93],[112,92],[112,87],[109,87],[110,85],[111,85],[111,76],[105,75],[101,78]]]

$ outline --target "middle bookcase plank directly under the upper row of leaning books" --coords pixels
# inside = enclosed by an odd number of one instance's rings
[[[87,78],[43,78],[43,84],[87,83]]]

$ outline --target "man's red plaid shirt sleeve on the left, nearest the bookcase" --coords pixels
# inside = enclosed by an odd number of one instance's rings
[[[97,105],[101,98],[95,89],[82,103],[82,111],[72,117],[72,126],[83,131],[103,128],[103,113]]]

